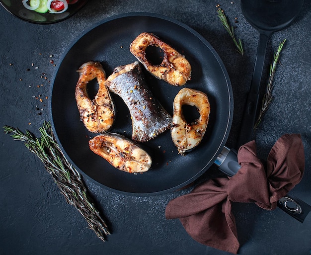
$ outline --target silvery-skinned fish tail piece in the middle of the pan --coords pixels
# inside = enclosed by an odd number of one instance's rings
[[[148,88],[138,61],[116,67],[105,85],[129,108],[134,141],[150,141],[170,128],[172,117]]]

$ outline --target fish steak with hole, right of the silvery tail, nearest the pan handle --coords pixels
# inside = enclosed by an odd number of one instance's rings
[[[200,117],[192,123],[187,123],[183,105],[196,106]],[[178,152],[184,155],[198,146],[205,134],[210,115],[210,102],[207,94],[192,88],[182,88],[174,98],[171,138]]]

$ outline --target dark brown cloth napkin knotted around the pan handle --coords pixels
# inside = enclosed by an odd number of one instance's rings
[[[239,243],[232,202],[275,209],[278,200],[300,182],[305,169],[299,134],[279,138],[269,153],[266,169],[257,157],[254,141],[239,148],[237,159],[241,168],[233,177],[210,179],[171,200],[165,209],[166,219],[179,218],[197,242],[233,254]]]

